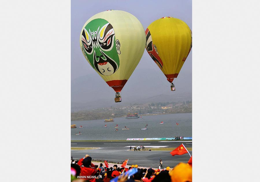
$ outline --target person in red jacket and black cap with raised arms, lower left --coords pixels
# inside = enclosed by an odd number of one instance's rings
[[[94,178],[96,174],[96,168],[95,165],[91,163],[91,160],[92,158],[87,154],[84,158],[81,158],[77,164],[81,169],[81,179],[89,180],[90,182],[96,182],[96,178]],[[83,167],[81,165],[83,165]]]

